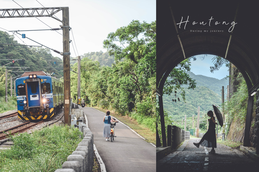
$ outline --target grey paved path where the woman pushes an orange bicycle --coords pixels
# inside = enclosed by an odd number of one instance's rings
[[[84,107],[88,126],[94,134],[94,144],[108,172],[156,171],[156,148],[144,141],[122,123],[115,126],[114,141],[105,141],[103,134],[104,113]]]

